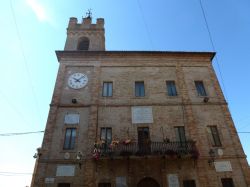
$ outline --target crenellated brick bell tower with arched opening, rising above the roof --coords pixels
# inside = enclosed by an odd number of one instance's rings
[[[77,18],[71,17],[64,50],[105,51],[104,19],[97,18],[96,23],[92,23],[89,14],[78,23]]]

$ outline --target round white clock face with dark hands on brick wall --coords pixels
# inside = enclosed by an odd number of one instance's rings
[[[73,89],[80,89],[86,86],[88,83],[87,75],[83,73],[74,73],[69,76],[68,85]]]

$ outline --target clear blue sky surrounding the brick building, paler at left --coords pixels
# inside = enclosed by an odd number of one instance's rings
[[[250,2],[202,0],[238,131],[250,131]],[[213,51],[199,0],[1,2],[0,133],[44,130],[69,17],[103,17],[107,50]],[[218,64],[221,75],[219,73]],[[222,81],[223,79],[223,81]],[[250,134],[240,134],[250,157]],[[0,186],[29,186],[42,133],[0,136]],[[250,161],[250,160],[248,160]]]

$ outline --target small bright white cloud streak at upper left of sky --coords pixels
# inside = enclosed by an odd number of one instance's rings
[[[39,21],[50,22],[48,13],[45,10],[45,7],[39,3],[37,0],[25,0],[27,5],[32,9],[36,14],[36,17]]]

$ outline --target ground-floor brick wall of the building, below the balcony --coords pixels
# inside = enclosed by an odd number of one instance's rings
[[[38,164],[39,165],[39,164]],[[33,187],[247,187],[239,159],[127,157],[43,164]],[[36,177],[39,178],[38,176]],[[225,185],[226,186],[226,185]]]

